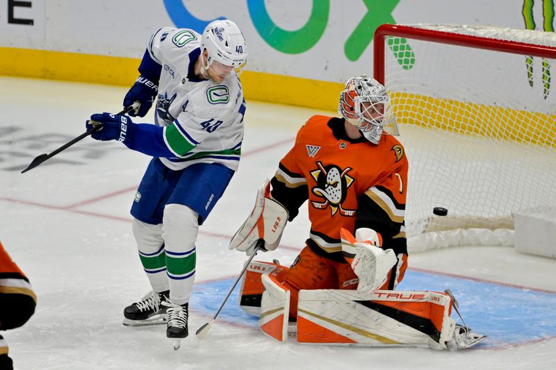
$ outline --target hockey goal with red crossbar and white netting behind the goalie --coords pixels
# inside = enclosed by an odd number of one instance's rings
[[[454,230],[512,230],[512,212],[554,205],[555,33],[384,24],[374,43],[375,78],[409,159],[410,248],[423,235],[436,235],[428,244],[444,235],[439,246],[448,246],[465,244]],[[511,231],[502,235],[471,243],[513,243]]]

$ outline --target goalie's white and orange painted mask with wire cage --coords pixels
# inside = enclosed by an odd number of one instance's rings
[[[380,142],[385,127],[384,133],[398,135],[390,96],[375,78],[364,74],[350,78],[340,93],[338,112],[373,144]]]

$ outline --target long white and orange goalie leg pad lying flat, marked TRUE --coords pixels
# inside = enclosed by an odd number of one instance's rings
[[[438,292],[301,290],[297,341],[443,349],[455,327],[451,307]]]

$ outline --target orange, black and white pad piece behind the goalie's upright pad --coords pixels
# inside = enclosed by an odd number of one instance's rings
[[[281,264],[253,261],[247,266],[245,275],[240,285],[239,305],[242,310],[249,314],[261,314],[261,298],[263,296],[264,286],[261,280],[263,275],[272,274],[281,281],[281,276],[288,267]]]

